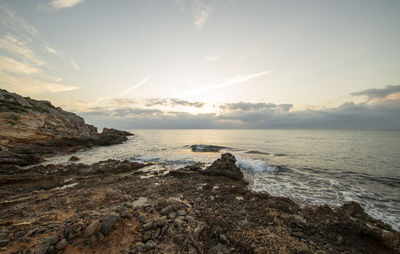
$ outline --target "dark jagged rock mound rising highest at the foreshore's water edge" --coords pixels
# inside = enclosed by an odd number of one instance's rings
[[[207,167],[203,174],[212,176],[225,176],[232,180],[243,180],[242,171],[236,166],[236,158],[230,153],[224,153],[221,158],[214,161],[211,166]]]

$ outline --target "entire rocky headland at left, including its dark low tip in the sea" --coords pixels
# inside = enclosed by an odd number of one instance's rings
[[[48,101],[0,89],[0,169],[38,163],[46,156],[120,144],[133,134],[97,128]]]

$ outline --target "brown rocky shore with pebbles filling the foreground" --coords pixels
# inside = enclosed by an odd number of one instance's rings
[[[108,160],[0,177],[2,253],[400,253],[354,202],[300,207],[248,190],[235,157],[167,171]]]

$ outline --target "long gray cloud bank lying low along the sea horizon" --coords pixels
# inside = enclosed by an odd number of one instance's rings
[[[366,95],[369,99],[387,98],[388,95],[397,94],[399,88],[400,86],[387,86],[352,95]],[[165,101],[171,104],[172,100]],[[146,106],[162,103],[162,99],[151,99]],[[172,104],[181,105],[179,100]],[[203,106],[187,101],[182,104]],[[151,108],[100,108],[80,115],[97,126],[122,129],[400,129],[400,98],[396,96],[374,103],[346,102],[335,108],[320,110],[291,111],[292,107],[291,104],[238,102],[220,105],[219,113],[196,115]]]

